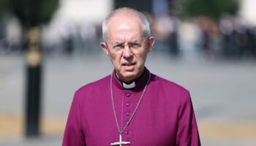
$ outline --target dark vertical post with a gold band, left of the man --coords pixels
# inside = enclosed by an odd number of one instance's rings
[[[41,60],[39,28],[29,30],[29,50],[26,56],[26,136],[39,136],[41,101]]]

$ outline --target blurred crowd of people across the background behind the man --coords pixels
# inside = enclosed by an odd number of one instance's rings
[[[153,53],[176,57],[193,53],[209,60],[256,58],[256,26],[238,16],[223,15],[219,21],[208,17],[181,20],[170,15],[146,16],[156,38]],[[42,53],[98,53],[101,31],[101,23],[53,20],[42,26]],[[23,54],[26,48],[26,30],[18,19],[12,15],[1,18],[0,55]]]

